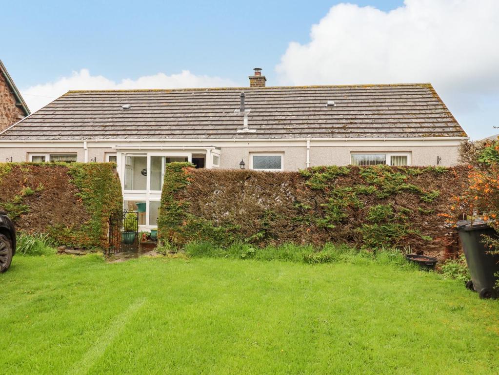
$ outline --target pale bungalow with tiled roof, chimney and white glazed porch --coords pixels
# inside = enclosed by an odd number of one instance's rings
[[[156,226],[164,167],[297,170],[458,163],[468,139],[429,83],[69,91],[0,133],[0,160],[116,161]]]

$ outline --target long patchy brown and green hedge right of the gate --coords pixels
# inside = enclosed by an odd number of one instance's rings
[[[191,240],[238,239],[259,246],[337,242],[371,249],[407,246],[439,255],[453,233],[446,225],[452,197],[463,188],[468,170],[332,166],[257,172],[184,166],[166,173],[165,186],[175,173],[180,180],[185,176],[185,183],[178,185],[176,178],[178,188],[164,187],[163,201],[169,198],[171,204],[162,205],[159,231],[177,246]]]

